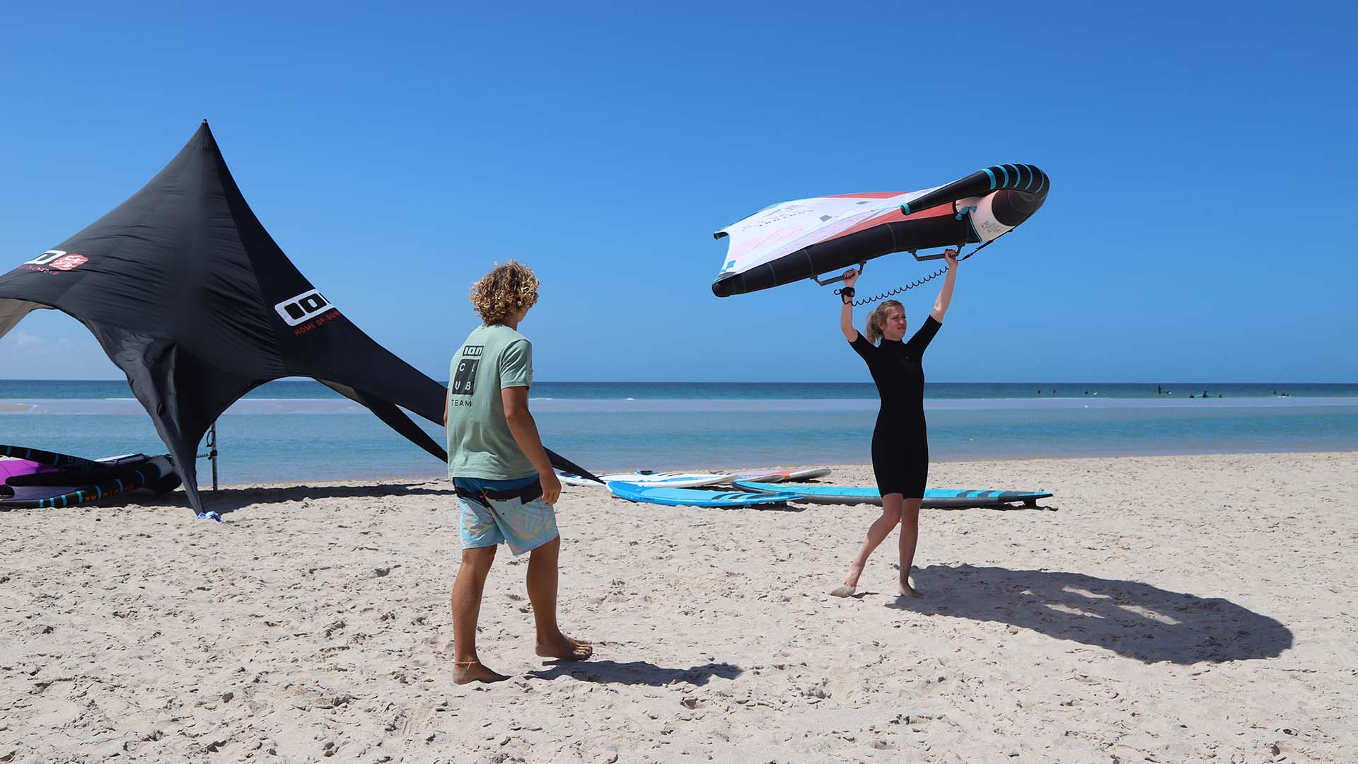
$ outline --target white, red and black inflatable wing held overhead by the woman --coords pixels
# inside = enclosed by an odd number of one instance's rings
[[[932,189],[766,207],[713,234],[729,237],[731,249],[712,294],[767,290],[895,251],[990,242],[1031,218],[1050,188],[1032,164],[995,164]]]

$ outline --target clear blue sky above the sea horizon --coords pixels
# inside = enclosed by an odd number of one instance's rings
[[[1355,41],[1339,3],[10,5],[0,271],[208,118],[284,251],[435,378],[516,257],[538,379],[865,381],[828,288],[712,296],[712,232],[1027,162],[1047,205],[963,264],[930,379],[1358,382]],[[0,377],[120,372],[39,311]]]

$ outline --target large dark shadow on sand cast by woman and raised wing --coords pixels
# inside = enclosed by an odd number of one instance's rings
[[[1275,658],[1293,642],[1287,627],[1228,600],[1134,580],[975,566],[930,566],[914,580],[928,597],[887,606],[1012,624],[1146,663]]]

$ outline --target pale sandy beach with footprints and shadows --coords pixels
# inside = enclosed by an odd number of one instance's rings
[[[839,466],[837,484],[870,484]],[[826,595],[876,508],[566,488],[532,654],[501,548],[449,681],[445,481],[0,514],[0,763],[1358,760],[1358,453],[934,464],[1042,510],[926,510]],[[1347,719],[1347,720],[1346,720]]]

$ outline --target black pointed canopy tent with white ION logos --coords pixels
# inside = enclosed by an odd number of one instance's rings
[[[398,408],[441,424],[444,387],[297,271],[250,211],[206,121],[141,190],[0,276],[0,336],[37,309],[84,324],[128,375],[196,511],[202,435],[240,396],[284,377],[311,377],[447,458]]]

